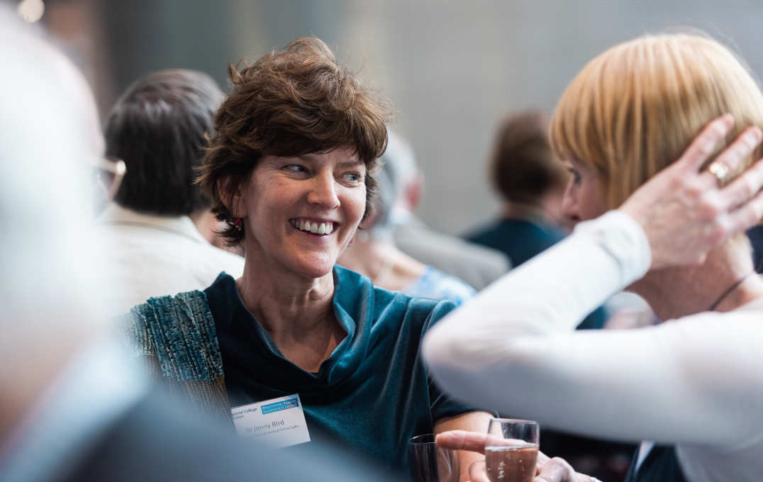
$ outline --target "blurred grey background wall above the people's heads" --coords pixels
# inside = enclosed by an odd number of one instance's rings
[[[668,27],[696,27],[763,69],[763,2],[751,0],[144,0],[108,2],[115,92],[169,66],[224,82],[227,63],[316,35],[398,111],[426,175],[420,216],[461,233],[495,214],[485,157],[496,121],[552,109],[593,56]],[[112,99],[105,99],[105,102]]]

